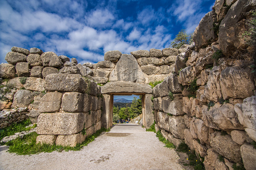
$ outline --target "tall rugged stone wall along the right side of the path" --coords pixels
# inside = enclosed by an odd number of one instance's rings
[[[153,88],[156,130],[176,146],[185,141],[208,170],[231,170],[241,160],[246,170],[256,169],[255,46],[242,38],[255,7],[256,1],[217,0],[197,26],[194,43],[176,57],[175,73]],[[223,55],[214,59],[217,50]],[[187,90],[193,82],[195,98]]]

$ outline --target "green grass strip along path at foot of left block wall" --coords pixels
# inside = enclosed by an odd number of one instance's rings
[[[101,128],[100,130],[96,131],[96,133],[88,136],[85,141],[81,144],[77,144],[75,147],[70,146],[61,146],[61,145],[49,145],[49,144],[36,144],[36,137],[38,134],[36,132],[30,133],[25,135],[24,138],[14,139],[6,143],[6,145],[10,146],[8,152],[17,153],[18,155],[31,155],[40,152],[53,152],[53,151],[79,151],[84,146],[88,145],[95,138],[100,136],[100,133],[103,131],[110,131],[109,129]]]

